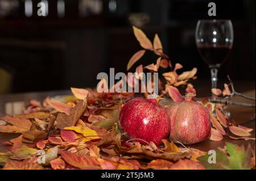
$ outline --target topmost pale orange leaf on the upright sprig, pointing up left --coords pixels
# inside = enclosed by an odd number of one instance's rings
[[[153,45],[151,41],[147,38],[147,36],[142,30],[133,26],[133,32],[142,48],[153,50]]]

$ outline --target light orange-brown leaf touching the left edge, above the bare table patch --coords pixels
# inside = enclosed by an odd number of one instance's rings
[[[23,117],[13,117],[6,115],[5,117],[0,118],[7,123],[12,125],[0,125],[0,132],[3,133],[22,133],[29,131],[31,128],[31,121]]]

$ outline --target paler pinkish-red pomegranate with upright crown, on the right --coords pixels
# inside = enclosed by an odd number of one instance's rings
[[[166,108],[171,120],[170,139],[181,144],[196,144],[210,135],[210,114],[193,94],[187,94],[184,102]]]

